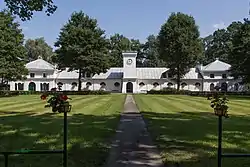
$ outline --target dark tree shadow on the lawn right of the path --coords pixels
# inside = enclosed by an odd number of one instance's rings
[[[142,112],[167,167],[216,167],[218,118],[208,112]],[[223,119],[223,152],[250,153],[250,117]],[[178,163],[176,163],[178,162]],[[250,158],[223,159],[223,166],[250,166]],[[175,164],[175,165],[174,165]]]

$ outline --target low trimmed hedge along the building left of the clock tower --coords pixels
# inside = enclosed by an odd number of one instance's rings
[[[67,95],[107,95],[108,91],[60,91]],[[40,95],[42,93],[53,94],[54,91],[0,91],[0,97],[11,97],[18,95]]]

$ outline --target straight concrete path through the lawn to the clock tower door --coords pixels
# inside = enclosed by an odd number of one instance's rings
[[[106,167],[163,167],[132,95],[127,95]]]

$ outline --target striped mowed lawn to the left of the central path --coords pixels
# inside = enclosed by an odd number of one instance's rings
[[[105,162],[125,95],[70,97],[68,166],[99,167]],[[37,95],[0,99],[0,152],[63,148],[63,114],[44,105]],[[15,155],[9,161],[9,167],[14,166],[61,167],[62,155]]]

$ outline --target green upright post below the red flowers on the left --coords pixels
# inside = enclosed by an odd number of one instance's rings
[[[67,121],[67,111],[64,110],[64,116],[63,116],[63,167],[68,166],[68,150],[67,150],[67,139],[68,139],[68,121]]]

